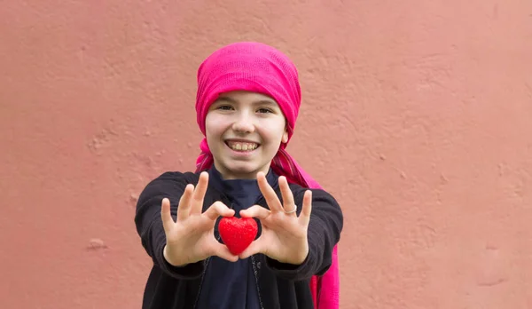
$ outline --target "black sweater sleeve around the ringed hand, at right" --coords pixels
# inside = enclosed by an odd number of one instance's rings
[[[286,280],[309,280],[313,275],[324,274],[332,264],[332,249],[340,241],[343,228],[340,205],[324,190],[311,189],[311,191],[312,211],[307,235],[309,242],[307,258],[301,265],[280,263],[272,258],[266,258],[270,269]],[[302,203],[303,194],[305,190],[294,196],[298,205]]]

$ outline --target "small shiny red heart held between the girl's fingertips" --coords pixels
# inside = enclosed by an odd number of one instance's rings
[[[254,218],[224,217],[218,225],[223,243],[235,256],[246,250],[257,235]]]

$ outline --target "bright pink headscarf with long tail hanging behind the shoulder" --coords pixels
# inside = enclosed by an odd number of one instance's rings
[[[275,99],[286,117],[288,140],[293,135],[301,105],[301,88],[296,67],[275,48],[259,43],[230,44],[211,54],[198,69],[196,97],[197,121],[205,136],[205,118],[209,106],[223,92],[253,91]],[[201,154],[196,171],[207,170],[213,164],[207,139],[200,144]],[[273,158],[271,168],[289,182],[321,189],[286,152],[282,144]],[[340,275],[337,246],[332,251],[332,265],[323,276],[313,276],[310,289],[318,309],[338,309],[340,305]]]

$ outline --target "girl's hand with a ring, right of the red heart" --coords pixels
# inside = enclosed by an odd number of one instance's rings
[[[303,197],[301,214],[297,217],[293,194],[286,177],[279,177],[279,186],[283,203],[278,199],[273,188],[268,184],[264,173],[257,174],[257,182],[270,210],[254,205],[241,210],[244,218],[258,218],[262,224],[262,234],[247,247],[239,258],[248,258],[262,253],[281,263],[301,265],[309,254],[307,229],[312,209],[312,192],[308,190]]]

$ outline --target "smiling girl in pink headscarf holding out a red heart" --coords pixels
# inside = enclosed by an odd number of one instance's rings
[[[286,153],[301,105],[293,63],[257,43],[230,44],[198,71],[197,170],[166,172],[137,202],[137,232],[153,268],[143,309],[338,308],[334,198]],[[221,217],[255,218],[233,255]]]

